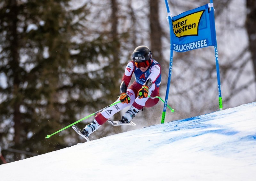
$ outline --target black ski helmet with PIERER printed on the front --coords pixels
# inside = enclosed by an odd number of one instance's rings
[[[151,63],[152,54],[150,49],[147,46],[139,46],[134,49],[132,53],[132,60],[133,62],[144,62],[149,60]]]

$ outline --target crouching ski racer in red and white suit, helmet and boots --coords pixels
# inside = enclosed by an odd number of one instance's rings
[[[135,74],[135,81],[127,88],[133,73]],[[129,123],[144,106],[152,107],[158,103],[159,99],[151,99],[148,95],[152,97],[159,96],[160,83],[161,66],[152,59],[150,49],[147,46],[136,47],[132,54],[132,61],[126,65],[120,85],[121,94],[117,101],[120,100],[121,103],[99,112],[92,123],[84,127],[82,134],[88,137],[116,112],[127,106],[130,106],[130,108],[124,113],[120,121]]]

